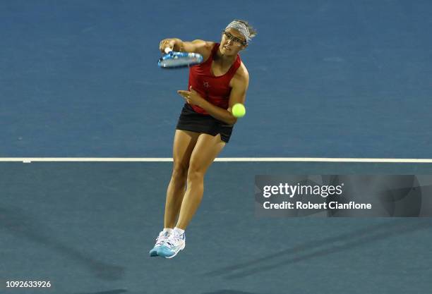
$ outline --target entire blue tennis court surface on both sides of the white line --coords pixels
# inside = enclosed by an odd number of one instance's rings
[[[220,157],[432,158],[430,2],[174,5],[0,1],[0,159],[171,157],[188,73],[157,68],[160,39],[218,41],[234,18],[258,36]],[[0,293],[430,293],[430,219],[257,218],[253,200],[258,174],[430,163],[215,162],[186,250],[151,259],[171,169],[0,160]]]

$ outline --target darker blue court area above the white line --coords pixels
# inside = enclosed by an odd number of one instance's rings
[[[160,39],[233,18],[258,36],[222,157],[432,157],[428,1],[188,3],[1,1],[1,157],[171,157],[188,73],[157,68]]]

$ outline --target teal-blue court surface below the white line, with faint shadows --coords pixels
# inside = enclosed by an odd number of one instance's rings
[[[52,283],[19,293],[428,293],[428,218],[256,218],[254,175],[311,170],[432,171],[216,162],[186,250],[162,259],[148,250],[162,226],[170,163],[3,163],[1,279]]]

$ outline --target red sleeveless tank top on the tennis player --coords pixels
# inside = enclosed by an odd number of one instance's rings
[[[240,67],[241,59],[240,55],[237,54],[234,63],[232,63],[227,73],[216,77],[212,74],[211,67],[213,56],[215,56],[217,49],[219,49],[219,45],[219,43],[215,44],[212,53],[204,63],[189,68],[188,89],[192,86],[193,90],[196,90],[201,97],[211,104],[223,109],[228,109],[229,93],[231,93],[229,82],[236,73],[237,68]],[[193,105],[192,108],[199,114],[208,114],[199,106]]]

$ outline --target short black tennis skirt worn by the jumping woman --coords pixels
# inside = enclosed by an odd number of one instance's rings
[[[219,121],[216,118],[208,114],[198,114],[194,111],[192,106],[184,104],[181,109],[179,122],[177,123],[177,130],[189,130],[196,133],[205,133],[212,136],[220,134],[220,138],[224,142],[229,141],[232,133],[232,125],[227,125],[223,121]]]

